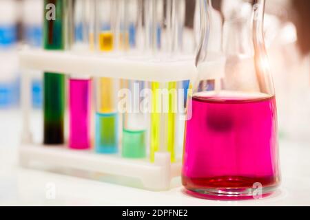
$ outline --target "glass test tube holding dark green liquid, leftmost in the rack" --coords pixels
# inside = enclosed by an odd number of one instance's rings
[[[64,49],[64,17],[65,1],[44,0],[44,49]],[[50,8],[54,5],[54,19]],[[63,144],[64,142],[64,113],[65,113],[65,76],[45,72],[44,87],[44,144]]]

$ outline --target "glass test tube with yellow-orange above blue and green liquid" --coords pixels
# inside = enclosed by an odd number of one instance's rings
[[[96,1],[99,29],[98,50],[112,52],[115,44],[116,1]],[[95,149],[97,153],[116,153],[118,151],[118,80],[98,78],[96,80],[96,128]]]

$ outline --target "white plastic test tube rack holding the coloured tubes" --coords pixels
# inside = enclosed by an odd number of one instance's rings
[[[197,76],[194,60],[158,61],[128,59],[88,52],[57,52],[23,49],[19,52],[22,70],[87,74],[125,80],[145,80],[167,83],[194,80]],[[169,74],[167,74],[169,73]],[[30,132],[30,76],[22,74],[23,136],[19,148],[19,162],[32,167],[39,162],[60,168],[72,168],[121,177],[136,178],[147,190],[168,190],[172,179],[180,176],[181,161],[170,161],[168,152],[156,152],[154,163],[145,159],[126,159],[115,155],[99,155],[90,151],[74,151],[65,146],[43,146],[32,142]]]

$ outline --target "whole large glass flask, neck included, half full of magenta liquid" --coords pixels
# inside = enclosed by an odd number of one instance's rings
[[[280,183],[265,0],[200,0],[198,78],[187,104],[182,181],[206,199],[256,199]]]

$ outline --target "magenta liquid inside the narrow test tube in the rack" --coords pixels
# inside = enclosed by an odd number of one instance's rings
[[[70,79],[70,140],[73,149],[90,148],[90,79]]]

